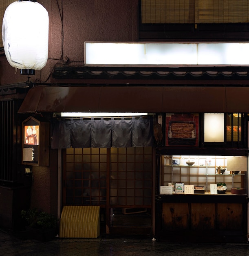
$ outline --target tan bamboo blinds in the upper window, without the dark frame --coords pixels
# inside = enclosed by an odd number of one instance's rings
[[[141,0],[142,23],[249,22],[249,0]]]

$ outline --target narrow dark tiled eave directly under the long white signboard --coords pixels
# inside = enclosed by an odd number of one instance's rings
[[[249,67],[55,67],[53,78],[247,80]]]

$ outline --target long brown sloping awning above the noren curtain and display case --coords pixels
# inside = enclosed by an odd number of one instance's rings
[[[249,112],[248,97],[248,87],[37,86],[18,112]]]

